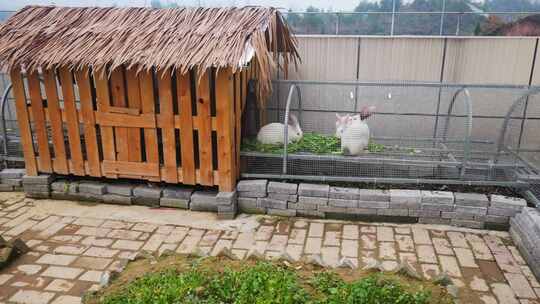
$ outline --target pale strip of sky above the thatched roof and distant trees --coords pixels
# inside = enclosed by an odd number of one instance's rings
[[[244,6],[266,5],[292,10],[305,10],[313,5],[318,8],[334,11],[352,11],[359,0],[161,0],[162,3],[176,2],[183,6]],[[370,0],[376,1],[376,0]],[[0,10],[17,10],[25,5],[66,5],[66,6],[144,6],[150,5],[150,0],[0,0]]]

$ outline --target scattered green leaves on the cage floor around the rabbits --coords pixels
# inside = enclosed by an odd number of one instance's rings
[[[369,152],[382,152],[385,147],[382,144],[370,142]],[[263,152],[280,154],[283,153],[283,145],[262,144],[256,138],[247,138],[242,141],[242,151]],[[304,136],[287,145],[288,153],[313,153],[313,154],[342,154],[341,140],[334,135],[319,133],[304,133]]]

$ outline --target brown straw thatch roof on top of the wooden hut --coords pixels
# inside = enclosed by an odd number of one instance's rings
[[[267,82],[296,43],[275,8],[98,8],[27,6],[0,27],[3,67],[78,69],[232,67],[257,59]],[[281,56],[282,60],[279,59]]]

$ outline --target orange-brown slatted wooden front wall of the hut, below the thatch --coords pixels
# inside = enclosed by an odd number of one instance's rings
[[[232,191],[254,68],[11,70],[27,174],[38,172]],[[198,79],[200,79],[198,81]]]

